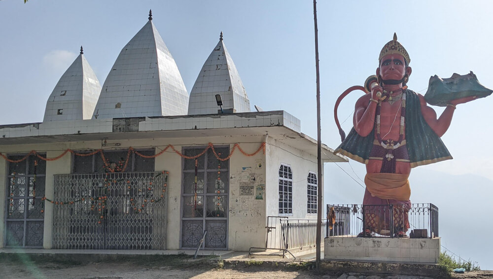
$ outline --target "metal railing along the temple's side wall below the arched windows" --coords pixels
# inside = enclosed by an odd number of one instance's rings
[[[281,219],[281,247],[295,249],[317,244],[317,219]],[[321,232],[325,231],[325,221],[322,221]],[[323,238],[321,240],[323,244]]]

